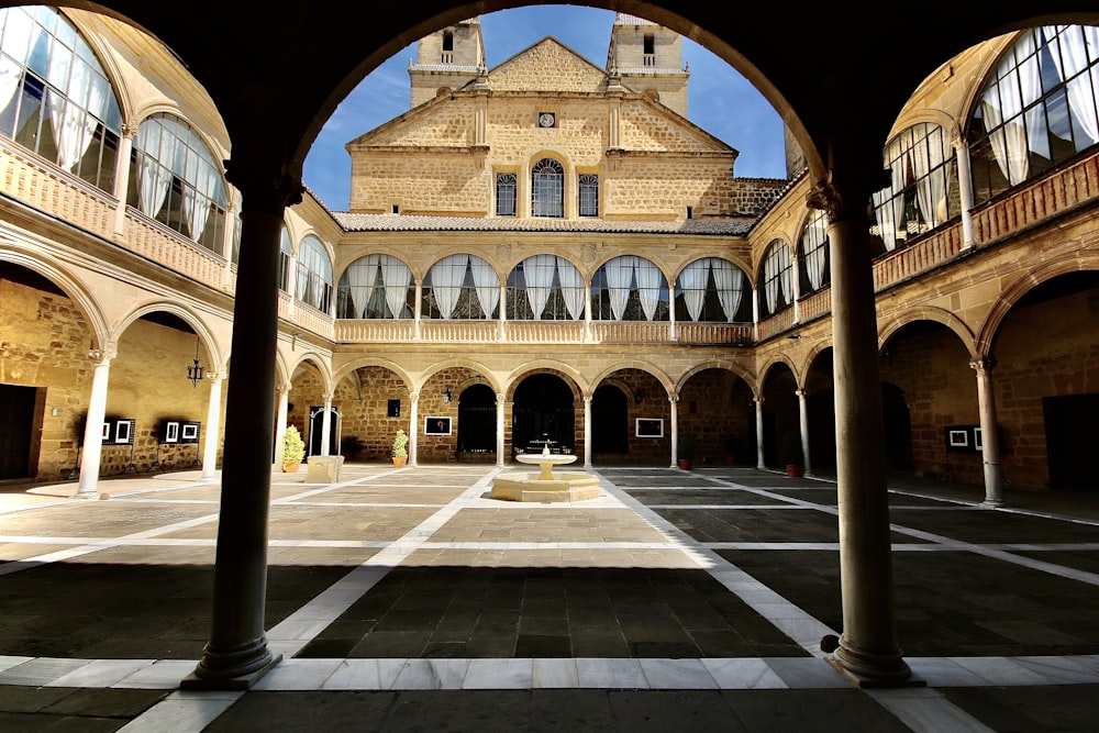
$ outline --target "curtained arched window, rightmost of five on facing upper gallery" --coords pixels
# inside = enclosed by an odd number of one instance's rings
[[[747,281],[728,259],[696,259],[676,278],[676,320],[751,323],[752,301],[744,297]]]

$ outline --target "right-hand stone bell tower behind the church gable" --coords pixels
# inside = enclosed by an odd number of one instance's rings
[[[687,116],[687,81],[682,40],[675,31],[635,15],[619,13],[611,27],[607,73],[622,85],[646,92],[681,116]]]

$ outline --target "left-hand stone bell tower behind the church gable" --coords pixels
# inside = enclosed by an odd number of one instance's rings
[[[476,79],[485,71],[480,19],[471,18],[435,31],[417,43],[409,62],[410,109]]]

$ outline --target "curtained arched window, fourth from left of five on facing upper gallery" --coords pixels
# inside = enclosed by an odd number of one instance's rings
[[[609,259],[591,280],[596,321],[667,321],[668,281],[655,263],[636,255]]]

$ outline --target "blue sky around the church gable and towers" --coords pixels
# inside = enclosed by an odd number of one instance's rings
[[[576,5],[532,5],[480,16],[491,69],[552,35],[603,68],[614,13]],[[725,62],[684,38],[690,66],[688,118],[740,152],[736,176],[784,178],[782,121],[770,103]],[[333,211],[346,211],[351,190],[349,141],[409,109],[409,46],[376,68],[340,104],[306,158],[303,179]]]

